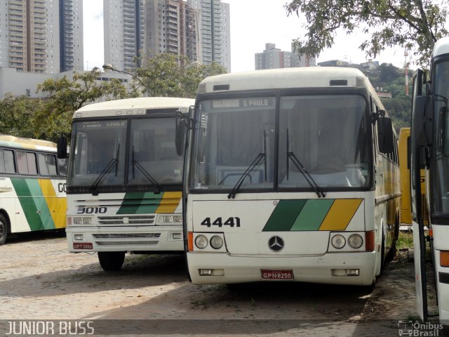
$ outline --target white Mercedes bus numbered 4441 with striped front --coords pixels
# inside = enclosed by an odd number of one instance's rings
[[[391,119],[359,70],[204,79],[188,131],[185,249],[195,284],[372,286],[398,237]]]

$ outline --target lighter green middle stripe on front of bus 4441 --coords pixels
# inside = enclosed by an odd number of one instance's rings
[[[318,230],[334,199],[309,199],[297,216],[291,230]]]

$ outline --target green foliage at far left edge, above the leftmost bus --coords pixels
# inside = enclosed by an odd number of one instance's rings
[[[27,95],[15,97],[7,93],[0,100],[0,133],[11,136],[39,138],[41,130],[36,128],[36,112],[43,107],[38,98],[29,98]]]

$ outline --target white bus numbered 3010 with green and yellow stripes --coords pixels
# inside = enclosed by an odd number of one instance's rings
[[[175,145],[185,138],[176,138],[176,116],[193,104],[189,98],[129,98],[74,112],[69,252],[97,252],[101,267],[113,271],[127,252],[182,253],[184,157]]]

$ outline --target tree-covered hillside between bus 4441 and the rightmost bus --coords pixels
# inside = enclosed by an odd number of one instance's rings
[[[399,132],[400,128],[410,126],[413,70],[408,71],[409,95],[406,95],[405,69],[382,63],[377,69],[365,73],[377,90],[391,93],[391,98],[381,98],[381,100],[385,110],[393,119],[396,131]]]

